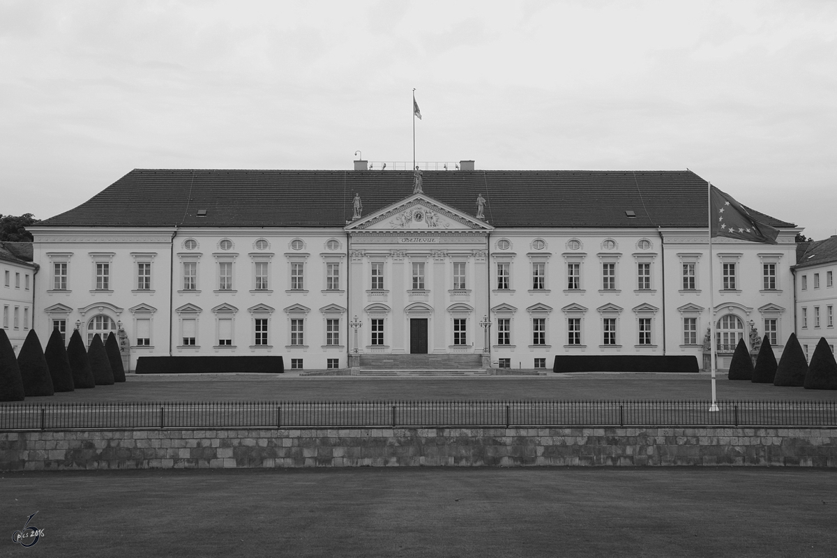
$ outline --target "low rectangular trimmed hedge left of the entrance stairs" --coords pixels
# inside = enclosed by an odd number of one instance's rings
[[[137,374],[197,374],[201,372],[264,372],[281,374],[281,356],[141,356]]]

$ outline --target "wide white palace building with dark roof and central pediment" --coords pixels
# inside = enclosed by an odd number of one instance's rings
[[[170,355],[703,363],[716,320],[720,369],[752,330],[777,356],[794,330],[802,229],[752,211],[778,244],[715,238],[710,262],[707,183],[692,171],[457,167],[136,169],[29,228],[33,325],[124,330],[131,368]]]

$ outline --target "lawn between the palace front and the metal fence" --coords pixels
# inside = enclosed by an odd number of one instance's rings
[[[718,399],[833,401],[837,392],[717,379]],[[706,374],[564,374],[470,378],[129,376],[126,383],[27,397],[32,402],[371,400],[709,400]]]

